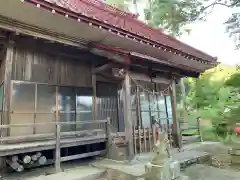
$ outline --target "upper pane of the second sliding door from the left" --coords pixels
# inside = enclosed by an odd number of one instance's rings
[[[37,85],[37,112],[53,113],[56,107],[56,87]]]

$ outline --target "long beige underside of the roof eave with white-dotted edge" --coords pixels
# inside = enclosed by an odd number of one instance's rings
[[[144,39],[140,35],[131,34],[94,17],[90,18],[85,14],[74,13],[56,4],[37,0],[27,2],[31,4],[21,3],[20,0],[0,2],[0,14],[8,18],[5,19],[4,23],[8,25],[5,27],[12,30],[18,27],[18,30],[21,29],[23,33],[29,33],[29,29],[32,29],[33,32],[38,31],[40,34],[48,32],[49,35],[44,35],[43,38],[50,39],[55,36],[57,37],[55,39],[61,40],[62,43],[67,43],[70,40],[75,46],[86,47],[88,44],[104,44],[111,48],[117,47],[122,51],[142,53],[155,60],[169,63],[171,66],[180,68],[185,66],[183,70],[186,71],[190,68],[193,71],[202,72],[217,64],[216,61],[195,57],[148,38]],[[16,11],[10,11],[11,7],[17,7]],[[26,16],[26,12],[29,16]],[[161,64],[160,61],[159,64]]]

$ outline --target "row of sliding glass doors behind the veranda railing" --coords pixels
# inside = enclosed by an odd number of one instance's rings
[[[28,82],[12,82],[10,124],[36,124],[10,128],[10,136],[54,133],[49,122],[76,122],[92,120],[92,89],[51,86]],[[1,93],[1,89],[0,89]],[[1,103],[2,104],[2,103]],[[46,123],[46,124],[44,124]],[[84,130],[83,125],[63,125],[61,131]]]

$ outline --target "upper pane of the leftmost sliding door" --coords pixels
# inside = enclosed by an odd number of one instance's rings
[[[13,111],[34,112],[34,84],[14,83],[12,89],[12,96]]]

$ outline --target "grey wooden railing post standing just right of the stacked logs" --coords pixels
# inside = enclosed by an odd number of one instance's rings
[[[59,122],[56,122],[56,149],[55,149],[55,172],[61,172],[61,147],[60,147],[60,133],[61,125]]]

